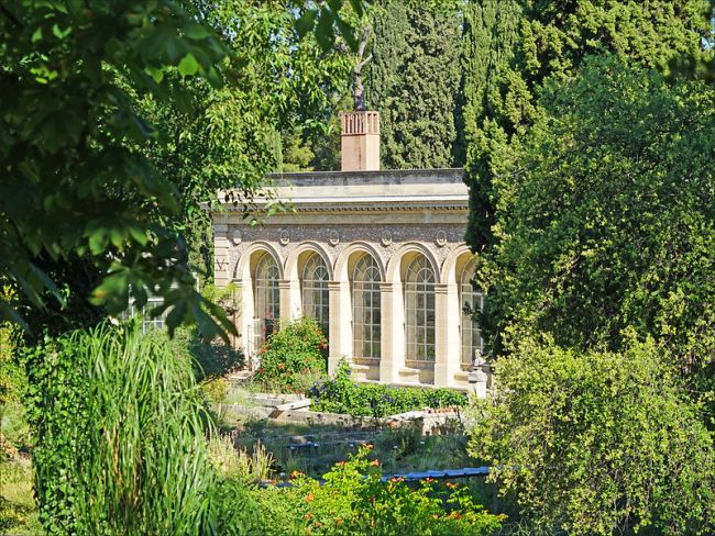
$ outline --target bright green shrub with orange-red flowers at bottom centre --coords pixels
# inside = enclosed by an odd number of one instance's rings
[[[380,461],[362,448],[321,481],[293,474],[289,488],[241,489],[227,481],[219,491],[219,534],[430,534],[491,535],[504,516],[475,504],[466,487],[425,481],[382,481]],[[239,514],[240,512],[240,514]]]

